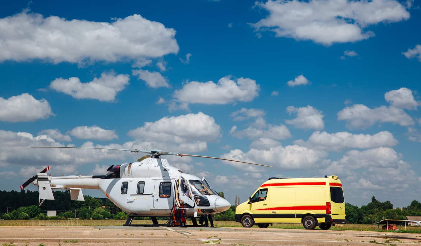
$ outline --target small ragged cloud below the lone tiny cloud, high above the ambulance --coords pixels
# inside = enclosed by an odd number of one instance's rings
[[[323,123],[324,115],[322,114],[322,111],[317,110],[310,105],[301,108],[289,106],[287,107],[287,111],[290,115],[293,113],[297,114],[295,119],[285,120],[285,123],[291,124],[294,127],[306,130],[321,130],[325,127],[325,124]]]

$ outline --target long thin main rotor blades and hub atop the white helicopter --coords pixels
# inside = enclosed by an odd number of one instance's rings
[[[120,148],[94,148],[94,147],[53,147],[53,146],[31,146],[31,148],[90,148],[90,149],[105,149],[105,150],[117,150],[117,151],[130,151],[132,153],[148,153],[152,158],[159,158],[161,155],[171,155],[171,156],[191,156],[191,157],[200,157],[200,158],[209,158],[209,159],[218,159],[223,161],[234,161],[234,162],[240,162],[245,164],[252,164],[262,167],[272,167],[268,165],[263,164],[257,164],[253,162],[247,162],[247,161],[237,161],[237,160],[231,160],[231,159],[224,159],[224,158],[218,158],[218,157],[211,157],[211,156],[197,156],[197,155],[189,155],[189,154],[182,154],[182,153],[173,153],[173,152],[167,152],[162,151],[158,149],[150,150],[150,151],[144,151],[144,150],[138,150],[137,148],[134,150],[130,149],[120,149]],[[32,182],[32,181],[31,181]]]

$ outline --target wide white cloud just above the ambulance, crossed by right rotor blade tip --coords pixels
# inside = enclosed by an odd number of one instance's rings
[[[327,155],[328,153],[325,151],[314,150],[299,145],[288,145],[285,147],[271,147],[264,150],[252,148],[246,153],[239,149],[235,149],[221,155],[221,158],[266,164],[282,169],[316,169],[318,167],[317,163]],[[254,165],[241,164],[232,161],[224,161],[224,163],[250,172],[256,172],[262,169],[261,167],[256,167]]]

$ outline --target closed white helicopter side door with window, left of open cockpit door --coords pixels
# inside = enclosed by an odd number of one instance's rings
[[[172,209],[174,180],[155,180],[154,209]]]

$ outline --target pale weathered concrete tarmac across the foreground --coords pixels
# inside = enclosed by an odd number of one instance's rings
[[[415,245],[421,234],[352,230],[157,226],[2,226],[0,245]]]

